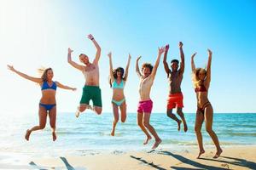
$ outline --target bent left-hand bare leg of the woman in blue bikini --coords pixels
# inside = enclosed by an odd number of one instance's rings
[[[46,119],[47,119],[47,111],[45,110],[44,107],[39,106],[38,116],[39,116],[39,126],[34,126],[31,129],[26,130],[25,139],[27,141],[29,140],[29,137],[32,131],[41,130],[41,129],[44,129],[45,127]]]

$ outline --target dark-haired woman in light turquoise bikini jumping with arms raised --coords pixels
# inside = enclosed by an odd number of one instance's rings
[[[108,54],[109,57],[109,83],[110,87],[113,88],[113,97],[112,97],[112,105],[113,105],[113,128],[111,135],[114,136],[114,130],[117,122],[119,122],[119,110],[121,111],[121,122],[125,122],[126,120],[126,103],[125,103],[125,82],[128,77],[128,70],[131,61],[131,55],[129,54],[128,63],[124,69],[122,67],[118,67],[113,70],[112,65],[112,54]]]

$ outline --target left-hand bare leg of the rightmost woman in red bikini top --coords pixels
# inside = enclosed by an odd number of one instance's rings
[[[196,134],[196,138],[197,138],[197,143],[199,146],[199,154],[197,156],[197,158],[200,158],[200,156],[205,153],[205,150],[203,148],[203,144],[202,144],[202,136],[201,136],[201,126],[202,123],[204,122],[204,115],[203,113],[196,111],[196,117],[195,117],[195,134]]]

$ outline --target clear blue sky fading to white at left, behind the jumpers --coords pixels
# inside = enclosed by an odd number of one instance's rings
[[[207,65],[212,49],[212,82],[209,99],[218,113],[256,112],[256,2],[231,0],[0,0],[0,103],[1,114],[38,112],[40,87],[9,71],[6,65],[32,77],[37,69],[52,67],[54,80],[78,88],[57,89],[57,111],[74,112],[84,86],[84,76],[67,63],[67,48],[79,62],[84,53],[94,59],[96,48],[87,39],[94,35],[102,47],[99,62],[103,112],[111,112],[112,89],[108,84],[108,52],[113,67],[131,67],[125,86],[128,112],[137,111],[140,65],[154,65],[158,47],[170,44],[167,61],[180,59],[183,42],[185,71],[182,82],[183,112],[195,113],[196,98],[191,82],[190,56],[196,67]],[[162,56],[163,58],[163,56]],[[166,112],[168,80],[160,65],[151,90],[153,112]]]

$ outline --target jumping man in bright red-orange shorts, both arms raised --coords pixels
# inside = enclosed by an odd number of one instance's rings
[[[172,59],[171,61],[171,68],[172,71],[169,69],[169,66],[166,62],[167,53],[169,50],[169,45],[166,45],[166,51],[164,55],[164,66],[167,73],[167,77],[169,79],[169,97],[167,99],[167,116],[172,118],[177,122],[177,130],[180,130],[180,124],[183,122],[184,131],[187,132],[188,127],[185,120],[185,117],[183,115],[183,94],[181,92],[181,82],[183,81],[183,72],[184,72],[184,65],[185,65],[185,59],[183,54],[183,42],[179,42],[179,51],[180,51],[180,57],[181,57],[181,63],[180,68],[178,68],[178,60]],[[177,115],[180,116],[182,119],[179,120],[177,116],[175,116],[172,113],[172,109],[177,108]]]

